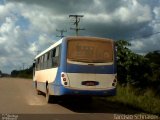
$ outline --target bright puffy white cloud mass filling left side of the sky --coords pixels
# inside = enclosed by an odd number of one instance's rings
[[[0,13],[3,17],[0,26],[0,69],[10,72],[22,63],[31,65],[36,52],[51,44],[49,36],[56,29],[53,23],[63,17],[55,17],[43,7],[22,3],[7,3],[0,9],[6,11],[4,15]],[[21,16],[29,21],[27,29],[22,29],[17,23]]]

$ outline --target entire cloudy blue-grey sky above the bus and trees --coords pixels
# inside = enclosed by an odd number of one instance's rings
[[[0,70],[31,66],[60,39],[56,29],[74,36],[72,14],[84,15],[81,36],[127,40],[139,54],[160,50],[160,0],[0,0]]]

